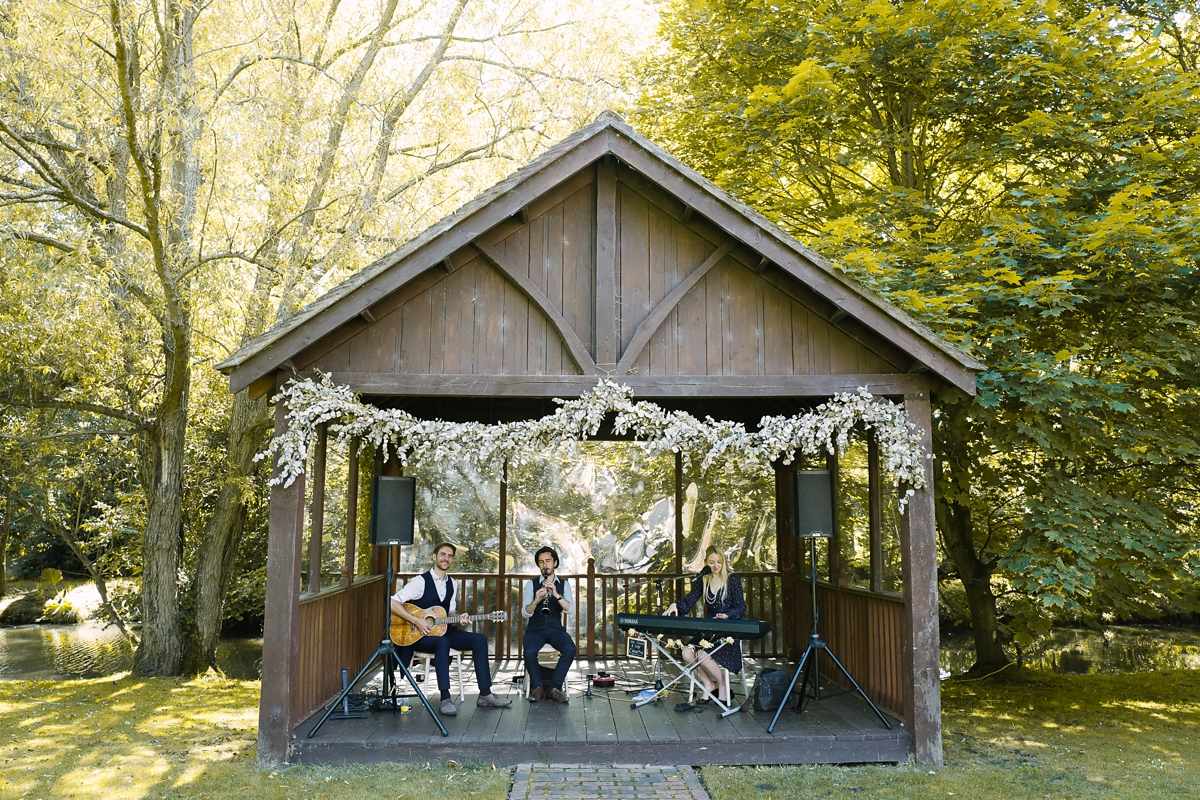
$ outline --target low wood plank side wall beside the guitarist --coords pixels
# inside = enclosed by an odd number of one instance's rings
[[[300,601],[298,691],[292,720],[300,721],[342,690],[342,668],[353,680],[383,633],[383,576],[328,589]]]

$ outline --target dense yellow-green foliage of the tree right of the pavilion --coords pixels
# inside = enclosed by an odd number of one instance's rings
[[[647,70],[654,136],[988,366],[938,396],[937,493],[991,591],[1036,600],[1016,631],[1154,615],[1194,581],[1200,22],[1177,11],[676,2]]]

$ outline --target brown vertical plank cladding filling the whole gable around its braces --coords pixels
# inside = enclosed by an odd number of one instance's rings
[[[528,277],[596,356],[595,198],[590,172],[481,237]],[[730,253],[678,301],[649,341],[655,308],[728,237],[683,219],[679,201],[618,170],[616,253],[618,359],[634,342],[642,375],[828,375],[904,372],[887,343],[856,338],[820,313],[822,301],[780,273]],[[556,329],[511,279],[463,248],[450,272],[402,289],[386,312],[308,366],[383,374],[558,375],[580,367]],[[644,347],[635,342],[635,333]],[[319,349],[319,348],[313,348]],[[894,355],[894,354],[893,354]]]

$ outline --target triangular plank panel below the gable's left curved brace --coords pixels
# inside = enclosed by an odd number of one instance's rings
[[[576,375],[554,325],[482,258],[473,258],[317,359],[324,372]]]

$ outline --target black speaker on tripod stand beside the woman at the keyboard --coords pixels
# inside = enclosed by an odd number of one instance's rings
[[[804,675],[804,680],[800,684],[800,696],[796,700],[796,710],[803,710],[809,697],[815,700],[821,699],[821,670],[817,664],[817,654],[822,651],[829,656],[829,661],[841,670],[841,674],[853,686],[853,690],[847,691],[858,692],[887,729],[892,729],[892,723],[888,722],[888,718],[875,706],[875,703],[866,696],[866,692],[858,685],[853,675],[841,666],[833,650],[821,639],[821,634],[817,632],[817,625],[821,621],[821,609],[817,608],[817,540],[823,539],[828,541],[833,539],[833,473],[829,470],[812,469],[792,473],[792,533],[799,539],[809,540],[809,590],[812,603],[812,628],[809,631],[809,645],[804,649],[804,655],[800,656],[800,662],[792,674],[792,681],[787,685],[787,691],[784,692],[784,702],[775,709],[775,716],[772,717],[770,724],[767,727],[767,733],[775,732],[775,723],[779,721],[779,715],[792,697],[792,690],[796,688],[796,681],[800,675]],[[811,694],[809,693],[810,686]]]

